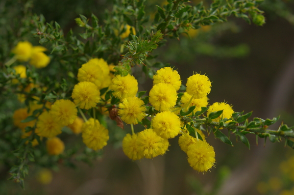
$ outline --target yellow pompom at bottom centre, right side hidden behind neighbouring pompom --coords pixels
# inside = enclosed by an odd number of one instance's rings
[[[126,134],[123,138],[123,152],[128,158],[134,161],[144,157],[142,151],[138,149],[137,138],[137,134]]]

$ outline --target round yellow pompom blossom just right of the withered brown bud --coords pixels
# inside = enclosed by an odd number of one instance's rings
[[[119,105],[119,115],[127,124],[138,124],[142,121],[145,110],[144,102],[136,96],[124,98]]]

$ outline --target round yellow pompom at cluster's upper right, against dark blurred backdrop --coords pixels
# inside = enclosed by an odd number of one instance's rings
[[[188,78],[186,86],[187,93],[199,99],[209,94],[211,83],[206,75],[196,74]]]

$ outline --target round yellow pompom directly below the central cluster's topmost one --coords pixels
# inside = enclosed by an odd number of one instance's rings
[[[159,83],[149,92],[149,102],[157,111],[168,111],[176,103],[177,93],[171,84]]]

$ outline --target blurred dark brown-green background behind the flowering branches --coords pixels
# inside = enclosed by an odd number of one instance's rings
[[[199,1],[192,1],[196,4]],[[147,14],[154,17],[155,4],[164,0],[147,0]],[[209,5],[210,1],[204,1]],[[272,118],[281,115],[276,126],[284,121],[294,125],[294,26],[289,17],[281,17],[269,1],[263,27],[249,25],[230,17],[227,23],[191,30],[155,50],[157,60],[170,63],[178,70],[183,84],[194,72],[206,74],[213,82],[209,103],[226,102],[234,111],[253,111],[253,117]],[[286,2],[289,9],[291,1]],[[16,9],[18,5],[15,5]],[[56,21],[65,34],[72,28],[78,32],[74,18],[94,13],[103,25],[109,0],[40,0],[34,1],[33,12],[46,20]],[[149,90],[152,81],[134,68],[141,90]],[[164,156],[132,162],[122,151],[125,131],[115,127],[114,137],[103,148],[103,155],[90,167],[76,162],[76,167],[54,170],[30,167],[26,187],[7,181],[0,169],[1,195],[294,195],[294,150],[284,141],[271,143],[264,139],[256,145],[255,136],[247,135],[250,150],[242,142],[231,140],[234,147],[213,135],[207,141],[215,148],[216,167],[206,174],[198,173],[187,162],[186,154],[177,144],[177,137]],[[224,131],[225,132],[225,131]],[[207,134],[206,134],[207,136]],[[66,146],[79,138],[67,139]],[[220,182],[222,181],[222,182]],[[288,193],[288,194],[287,194]]]

